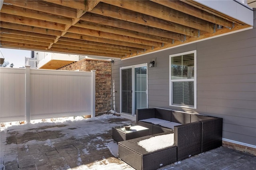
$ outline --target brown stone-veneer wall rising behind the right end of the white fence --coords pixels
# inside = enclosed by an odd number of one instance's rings
[[[111,63],[110,61],[82,59],[60,70],[96,70],[95,115],[108,111],[111,107]]]

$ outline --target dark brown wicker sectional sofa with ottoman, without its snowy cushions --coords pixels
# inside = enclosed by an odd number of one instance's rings
[[[180,125],[169,128],[146,122],[151,118]],[[150,135],[118,142],[119,158],[136,170],[154,170],[222,146],[222,118],[151,108],[136,110],[136,124],[149,128]],[[138,146],[141,140],[170,133],[174,144],[168,148],[147,152]]]

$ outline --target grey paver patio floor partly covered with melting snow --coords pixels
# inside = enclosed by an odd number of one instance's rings
[[[1,131],[0,170],[133,169],[113,156],[108,144],[116,144],[111,127],[134,122],[121,117],[105,118],[40,123],[32,128],[22,125]],[[220,147],[160,169],[253,170],[256,158]]]

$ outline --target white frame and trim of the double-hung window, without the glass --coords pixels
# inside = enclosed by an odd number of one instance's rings
[[[175,56],[178,56],[178,55],[186,55],[186,54],[190,54],[190,53],[194,53],[194,107],[191,107],[191,106],[185,106],[185,105],[173,105],[172,104],[172,82],[174,81],[180,81],[180,80],[172,80],[171,77],[172,77],[172,67],[171,67],[171,58],[172,57],[175,57]],[[169,55],[169,105],[170,106],[173,106],[173,107],[183,107],[183,108],[191,108],[191,109],[196,109],[196,106],[197,106],[197,102],[196,102],[196,98],[197,98],[197,95],[196,95],[196,50],[193,50],[193,51],[187,51],[187,52],[184,52],[184,53],[177,53],[177,54],[172,54],[172,55]],[[192,79],[182,79],[182,81],[191,81]]]

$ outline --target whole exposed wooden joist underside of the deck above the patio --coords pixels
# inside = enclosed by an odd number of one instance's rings
[[[4,2],[6,48],[124,59],[251,27],[194,0]]]

